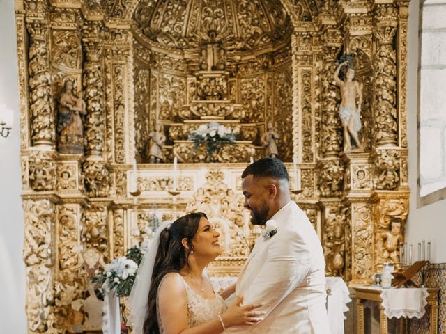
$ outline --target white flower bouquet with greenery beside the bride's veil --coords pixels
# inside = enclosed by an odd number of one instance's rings
[[[104,294],[109,292],[114,292],[118,297],[129,296],[143,255],[144,248],[133,246],[127,250],[126,256],[106,264],[104,271],[97,270],[91,282],[99,286],[96,292],[98,298],[103,299]]]

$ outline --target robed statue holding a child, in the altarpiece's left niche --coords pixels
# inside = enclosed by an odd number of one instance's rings
[[[57,134],[59,136],[59,152],[84,153],[84,125],[82,116],[86,114],[86,104],[82,91],[76,96],[73,93],[73,81],[67,79],[59,97],[59,121]]]

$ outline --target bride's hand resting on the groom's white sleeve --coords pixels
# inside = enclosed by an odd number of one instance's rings
[[[224,326],[254,325],[263,320],[262,316],[266,312],[254,311],[254,309],[261,307],[262,303],[252,303],[245,306],[242,306],[242,303],[243,297],[238,297],[236,303],[229,306],[226,312],[222,314]]]

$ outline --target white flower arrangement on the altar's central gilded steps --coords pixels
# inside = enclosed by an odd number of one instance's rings
[[[236,141],[236,135],[231,129],[217,122],[200,125],[197,130],[189,134],[188,138],[190,141],[194,141],[195,148],[201,143],[206,143],[206,150],[209,155],[218,152],[222,145],[233,144]]]

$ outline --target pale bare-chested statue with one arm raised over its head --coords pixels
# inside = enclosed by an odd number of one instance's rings
[[[339,77],[339,72],[345,66],[347,68],[344,81]],[[344,130],[344,152],[351,152],[352,140],[358,149],[362,149],[358,138],[358,132],[361,129],[362,87],[358,81],[353,80],[354,77],[355,70],[352,61],[344,61],[334,71],[334,81],[341,88],[339,118],[341,118]],[[357,104],[356,98],[358,100]]]

